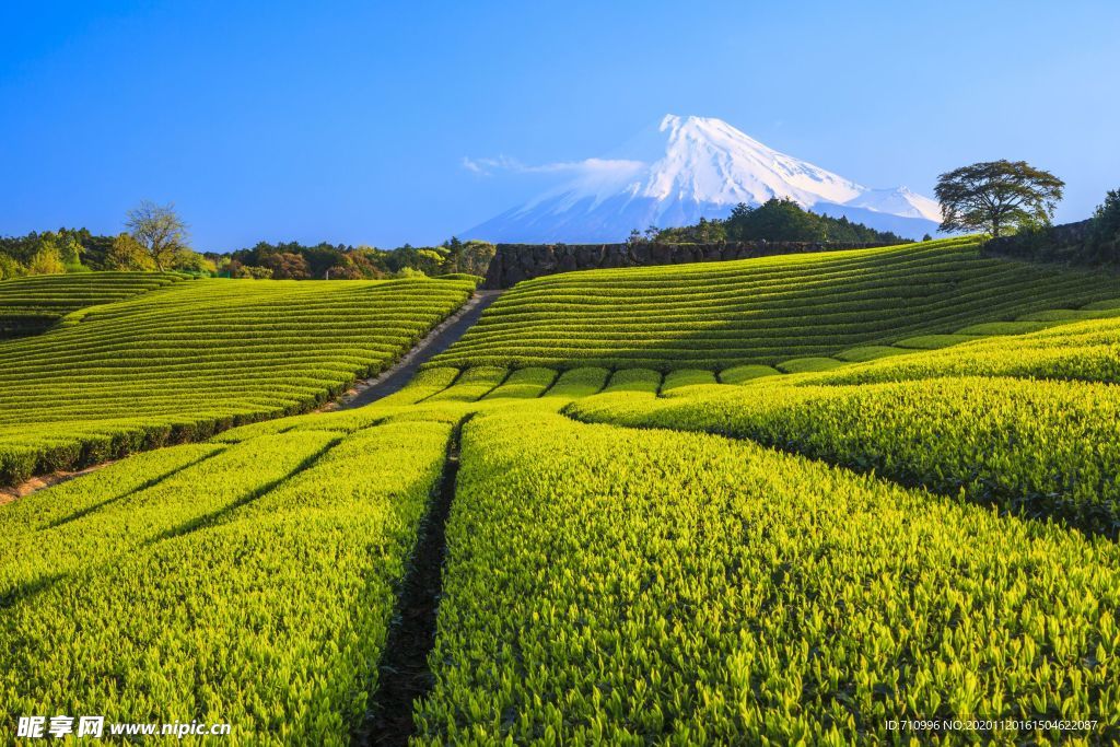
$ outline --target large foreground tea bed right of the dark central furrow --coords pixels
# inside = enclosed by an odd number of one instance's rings
[[[634,395],[631,395],[634,396]],[[1120,551],[710,435],[463,435],[416,744],[1120,738]],[[905,739],[905,737],[902,737]]]

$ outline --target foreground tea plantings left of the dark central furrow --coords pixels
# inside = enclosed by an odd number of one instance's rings
[[[181,446],[4,507],[0,709],[348,744],[451,428]]]

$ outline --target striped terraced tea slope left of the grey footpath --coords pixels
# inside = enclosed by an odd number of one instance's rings
[[[91,290],[78,292],[80,280]],[[100,273],[80,276],[52,297],[78,310],[0,343],[0,484],[321,404],[390,365],[474,289],[162,280],[91,305],[113,297]],[[7,284],[0,296],[15,297]]]

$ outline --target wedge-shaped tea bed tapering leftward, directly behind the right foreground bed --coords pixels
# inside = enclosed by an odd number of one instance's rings
[[[573,402],[586,422],[748,438],[1002,511],[1120,533],[1120,389],[1019,379],[707,386]]]

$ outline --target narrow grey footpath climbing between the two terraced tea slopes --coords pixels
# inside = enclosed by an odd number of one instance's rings
[[[417,343],[395,365],[373,379],[358,382],[337,402],[324,405],[320,411],[361,408],[401,390],[412,380],[420,366],[463,337],[501,295],[501,290],[476,291],[463,308],[428,333],[428,336]]]

